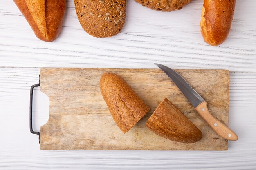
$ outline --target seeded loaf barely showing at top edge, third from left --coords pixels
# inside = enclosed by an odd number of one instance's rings
[[[191,0],[135,0],[142,4],[142,6],[148,7],[162,12],[170,12],[177,9],[182,9]]]

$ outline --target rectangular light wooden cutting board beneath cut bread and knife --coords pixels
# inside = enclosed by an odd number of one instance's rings
[[[229,117],[229,71],[176,70],[205,99],[224,124]],[[150,111],[126,134],[115,124],[101,96],[104,72],[123,77]],[[41,126],[41,150],[227,150],[196,113],[177,86],[160,69],[41,68],[41,91],[50,100],[49,120]],[[156,135],[145,123],[167,97],[203,134],[200,141],[183,144]]]

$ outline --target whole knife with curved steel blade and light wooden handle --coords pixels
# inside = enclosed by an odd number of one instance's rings
[[[232,131],[225,124],[222,124],[218,121],[207,108],[207,103],[204,99],[189,85],[186,80],[179,75],[173,69],[166,67],[162,64],[155,63],[170,79],[176,84],[180,91],[184,94],[184,96],[189,100],[189,102],[193,105],[195,110],[199,113],[199,115],[204,119],[204,121],[209,124],[209,126],[224,139],[236,141],[238,136],[234,131]]]

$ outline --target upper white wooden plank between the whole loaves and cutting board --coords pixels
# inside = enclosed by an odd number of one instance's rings
[[[51,43],[36,38],[11,0],[0,0],[0,66],[175,68],[255,71],[255,0],[238,0],[228,39],[206,44],[200,33],[202,0],[182,10],[159,12],[127,1],[126,24],[112,38],[94,38],[79,24],[73,0],[67,0],[63,29]],[[248,12],[245,12],[248,11]]]

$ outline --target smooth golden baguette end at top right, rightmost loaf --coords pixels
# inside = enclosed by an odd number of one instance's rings
[[[201,15],[201,33],[212,46],[222,44],[229,35],[236,0],[204,0]]]

